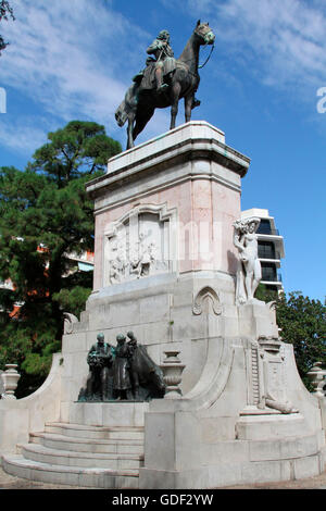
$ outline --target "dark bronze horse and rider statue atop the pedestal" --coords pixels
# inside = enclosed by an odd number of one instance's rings
[[[127,149],[134,147],[134,141],[156,108],[171,107],[170,129],[173,129],[178,101],[184,98],[185,122],[190,121],[191,110],[200,104],[195,97],[200,82],[199,50],[201,46],[214,45],[214,40],[215,35],[209,24],[198,21],[183,53],[175,59],[168,32],[160,32],[147,49],[150,57],[146,61],[145,70],[134,76],[133,84],[115,112],[118,126],[122,127],[128,121]]]

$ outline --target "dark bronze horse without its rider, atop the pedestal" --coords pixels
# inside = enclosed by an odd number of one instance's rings
[[[200,76],[199,50],[203,45],[213,45],[215,36],[208,23],[200,23],[191,34],[183,53],[176,60],[176,68],[168,79],[166,92],[158,94],[155,88],[143,89],[141,83],[134,83],[127,90],[125,99],[115,112],[118,126],[128,121],[127,149],[134,147],[134,141],[142,132],[156,108],[171,107],[170,129],[175,127],[178,113],[178,101],[185,99],[185,122],[191,119],[191,108],[196,90],[198,89]]]

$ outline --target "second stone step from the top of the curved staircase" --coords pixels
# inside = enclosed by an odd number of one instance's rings
[[[43,447],[55,450],[115,454],[143,453],[143,441],[139,439],[74,438],[57,433],[32,433],[29,438],[32,444],[41,444]]]

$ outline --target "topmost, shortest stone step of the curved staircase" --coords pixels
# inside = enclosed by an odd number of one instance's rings
[[[84,424],[47,423],[46,433],[57,433],[68,437],[95,439],[143,440],[143,427],[140,426],[88,426]]]

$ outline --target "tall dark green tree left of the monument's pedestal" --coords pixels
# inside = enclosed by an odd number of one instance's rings
[[[46,377],[60,349],[63,312],[79,314],[92,272],[76,272],[70,254],[93,250],[93,207],[85,184],[103,173],[121,146],[103,126],[73,121],[48,135],[24,172],[0,169],[0,366],[18,362],[17,395]],[[13,302],[22,304],[12,317]],[[30,388],[29,388],[30,387]]]

